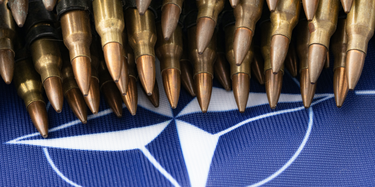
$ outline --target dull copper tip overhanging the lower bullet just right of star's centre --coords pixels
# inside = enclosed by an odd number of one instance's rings
[[[211,41],[216,23],[211,18],[199,18],[196,23],[196,48],[201,55],[206,50],[208,43]]]

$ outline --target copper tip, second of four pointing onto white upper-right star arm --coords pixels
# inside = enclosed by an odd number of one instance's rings
[[[240,113],[244,113],[248,104],[250,92],[250,76],[246,73],[236,73],[232,76],[233,95]]]

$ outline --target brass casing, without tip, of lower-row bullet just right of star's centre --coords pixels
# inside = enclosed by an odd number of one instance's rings
[[[193,77],[198,73],[209,73],[213,79],[213,63],[216,58],[216,32],[214,32],[207,49],[201,55],[198,54],[196,49],[196,25],[187,29],[187,36],[190,40],[189,57],[193,64]]]

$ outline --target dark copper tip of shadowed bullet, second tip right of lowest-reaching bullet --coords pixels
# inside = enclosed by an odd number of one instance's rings
[[[87,107],[82,92],[78,88],[72,88],[65,94],[69,107],[74,115],[83,123],[87,123]]]

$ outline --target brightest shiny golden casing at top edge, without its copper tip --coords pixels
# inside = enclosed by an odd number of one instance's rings
[[[117,42],[122,45],[124,13],[121,0],[93,0],[95,28],[102,39],[102,47]]]

